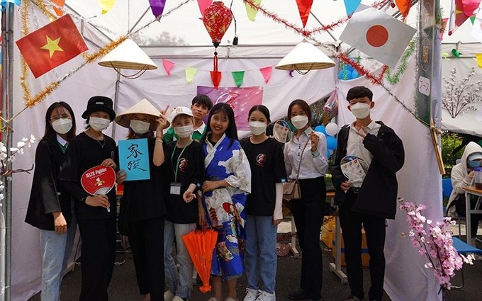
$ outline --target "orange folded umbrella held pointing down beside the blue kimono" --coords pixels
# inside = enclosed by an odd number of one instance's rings
[[[211,263],[213,263],[213,251],[218,239],[218,232],[213,229],[194,230],[181,238],[187,251],[189,251],[189,256],[191,256],[199,277],[203,281],[199,290],[203,293],[210,292],[209,277],[211,276]]]

